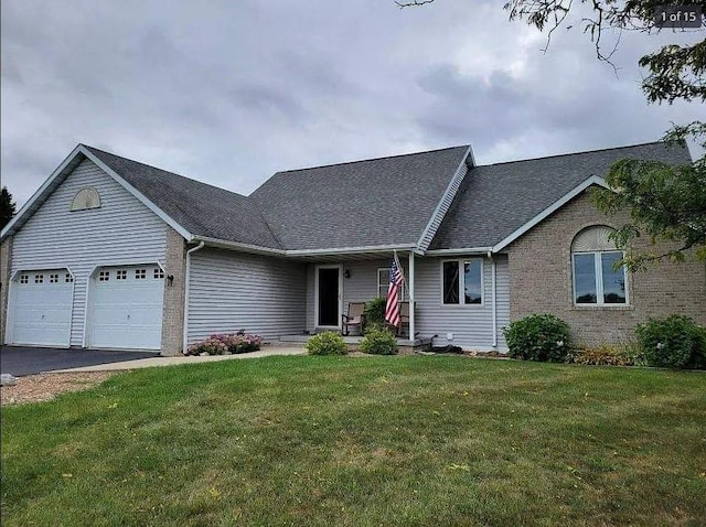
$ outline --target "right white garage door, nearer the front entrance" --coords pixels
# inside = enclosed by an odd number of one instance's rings
[[[100,268],[89,294],[89,347],[160,349],[164,272],[159,266]]]

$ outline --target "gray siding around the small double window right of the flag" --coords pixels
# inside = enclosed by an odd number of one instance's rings
[[[422,337],[438,335],[435,345],[453,344],[463,348],[489,349],[493,344],[493,302],[491,260],[483,258],[483,304],[445,305],[441,303],[441,258],[416,260],[416,331]],[[498,347],[506,345],[500,329],[510,319],[507,258],[496,257]],[[453,338],[447,341],[447,333]]]

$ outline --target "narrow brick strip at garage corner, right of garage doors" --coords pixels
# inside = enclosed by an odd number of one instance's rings
[[[184,279],[186,272],[186,244],[171,227],[167,230],[167,258],[164,271],[168,277],[164,286],[164,305],[162,308],[162,355],[182,353],[184,329]]]

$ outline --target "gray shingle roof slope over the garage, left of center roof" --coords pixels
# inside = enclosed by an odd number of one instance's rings
[[[84,146],[191,234],[280,249],[253,200]]]

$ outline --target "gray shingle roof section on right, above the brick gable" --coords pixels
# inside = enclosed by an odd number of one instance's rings
[[[477,166],[469,171],[431,249],[492,247],[592,175],[623,158],[692,162],[686,147],[652,142]]]

